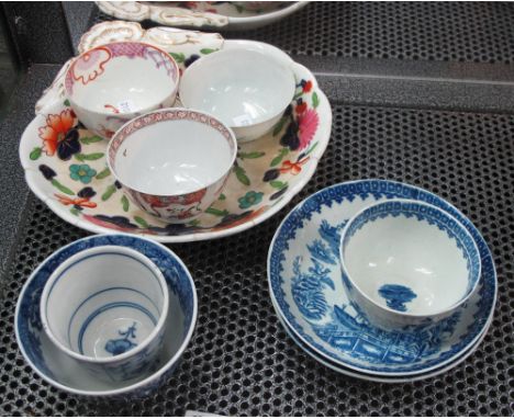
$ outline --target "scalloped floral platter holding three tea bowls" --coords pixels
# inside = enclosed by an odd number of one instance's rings
[[[183,71],[216,49],[257,48],[284,60],[297,77],[297,92],[271,133],[239,145],[236,165],[213,205],[188,224],[166,224],[138,210],[105,163],[107,140],[77,120],[65,99],[63,69],[36,104],[23,133],[20,158],[31,190],[66,222],[93,233],[125,231],[161,242],[206,240],[233,235],[280,211],[313,175],[331,136],[332,110],[314,76],[280,49],[217,34],[155,27],[133,22],[96,25],[79,50],[114,39],[144,38],[168,50]],[[65,65],[66,67],[66,65]]]

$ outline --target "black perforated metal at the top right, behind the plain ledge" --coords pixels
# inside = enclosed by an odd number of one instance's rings
[[[92,23],[112,19],[97,9]],[[513,64],[514,4],[323,1],[224,36],[267,42],[293,55]]]

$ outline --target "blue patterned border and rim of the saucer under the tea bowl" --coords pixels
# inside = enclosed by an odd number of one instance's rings
[[[289,241],[297,238],[297,230],[303,228],[304,224],[309,224],[309,222],[312,220],[314,213],[321,213],[322,206],[332,207],[334,203],[342,204],[344,201],[353,202],[357,196],[362,200],[367,197],[373,197],[376,200],[420,200],[437,206],[445,210],[459,220],[471,234],[479,248],[482,260],[482,276],[480,281],[483,282],[483,286],[477,291],[480,296],[479,314],[476,316],[476,320],[469,326],[467,333],[459,337],[459,341],[454,344],[450,350],[439,353],[437,358],[429,359],[421,365],[413,366],[394,364],[392,366],[382,365],[377,367],[373,365],[366,365],[362,362],[359,362],[356,358],[351,358],[349,360],[342,359],[337,352],[329,351],[319,344],[303,330],[302,326],[291,313],[289,304],[286,301],[286,294],[282,288],[284,280],[281,276],[281,273],[283,271],[282,262],[286,260],[283,252],[289,250]],[[481,332],[487,328],[488,321],[493,315],[498,293],[498,279],[491,251],[478,229],[462,213],[432,192],[401,182],[379,179],[350,181],[332,185],[314,193],[298,204],[282,220],[270,245],[268,253],[268,283],[271,298],[273,299],[273,303],[276,303],[273,306],[276,306],[276,309],[278,308],[280,312],[278,315],[287,322],[288,327],[295,333],[295,336],[304,344],[311,348],[311,350],[320,353],[324,359],[329,359],[334,363],[344,367],[349,367],[365,373],[392,376],[414,375],[424,371],[440,367],[445,363],[451,362],[463,353],[466,349],[473,346],[473,343],[480,338]]]

